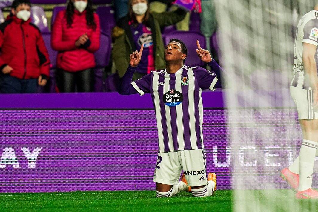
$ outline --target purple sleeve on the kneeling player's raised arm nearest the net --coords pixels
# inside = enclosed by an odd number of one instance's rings
[[[208,65],[211,67],[211,71],[208,71],[201,67],[197,67],[196,76],[200,88],[210,89],[214,91],[216,88],[221,87],[221,84],[214,70],[222,70],[222,68],[214,60],[209,62]]]

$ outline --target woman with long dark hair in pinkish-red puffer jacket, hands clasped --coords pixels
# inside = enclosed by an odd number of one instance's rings
[[[105,20],[107,21],[107,20]],[[51,37],[57,56],[60,92],[93,91],[94,52],[100,47],[100,21],[92,0],[71,0],[58,13]]]

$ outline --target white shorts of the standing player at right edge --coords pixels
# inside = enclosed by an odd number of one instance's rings
[[[318,111],[313,109],[313,91],[290,86],[290,94],[297,106],[298,119],[318,119]]]

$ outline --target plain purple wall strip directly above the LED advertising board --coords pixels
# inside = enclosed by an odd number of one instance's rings
[[[203,107],[223,107],[222,89],[202,92]],[[117,92],[0,94],[0,108],[32,109],[153,109],[150,94]]]

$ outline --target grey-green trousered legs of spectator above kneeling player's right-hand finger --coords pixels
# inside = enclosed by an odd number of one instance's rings
[[[214,0],[201,0],[201,33],[205,36],[206,46],[210,52],[212,51],[210,49],[210,37],[216,32],[218,24],[214,4]]]

